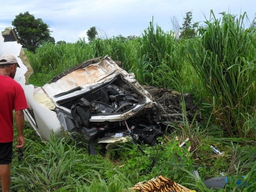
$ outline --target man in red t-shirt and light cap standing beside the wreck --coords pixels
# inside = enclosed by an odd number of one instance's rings
[[[17,124],[17,148],[24,145],[24,114],[23,109],[28,108],[24,91],[13,78],[17,67],[15,56],[3,55],[0,57],[0,180],[2,192],[10,189],[10,166],[12,162],[13,142],[13,110]]]

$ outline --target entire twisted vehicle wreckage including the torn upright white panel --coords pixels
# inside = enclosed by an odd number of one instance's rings
[[[182,98],[189,120],[196,105],[191,94],[142,86],[109,56],[94,58],[64,71],[42,87],[28,84],[33,73],[12,28],[0,35],[0,55],[15,55],[20,68],[15,80],[25,91],[29,109],[26,120],[36,133],[49,140],[83,135],[90,154],[94,141],[107,148],[133,139],[154,145],[172,123],[182,121]]]

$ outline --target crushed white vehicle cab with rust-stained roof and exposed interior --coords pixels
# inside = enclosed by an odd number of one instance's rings
[[[55,113],[41,123],[45,112],[36,116],[33,106],[26,110],[29,122],[46,140],[52,120],[59,122],[56,131],[84,134],[91,143],[97,137],[101,137],[99,143],[126,140],[132,133],[152,145],[154,137],[163,134],[154,121],[157,110],[151,95],[108,56],[61,73],[49,84],[35,88],[33,95],[35,102]],[[46,128],[48,135],[44,134]],[[92,145],[90,153],[93,151]]]

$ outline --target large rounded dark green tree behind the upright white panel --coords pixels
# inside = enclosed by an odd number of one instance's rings
[[[35,52],[35,49],[45,42],[55,42],[50,36],[49,26],[41,18],[35,19],[29,12],[20,13],[12,21],[20,44],[29,51]]]

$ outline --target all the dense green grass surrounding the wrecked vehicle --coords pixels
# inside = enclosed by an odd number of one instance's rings
[[[119,145],[89,156],[84,143],[53,138],[41,142],[26,128],[25,160],[12,163],[12,191],[121,192],[139,181],[164,175],[198,192],[210,192],[202,180],[231,177],[225,192],[256,191],[256,29],[245,29],[246,15],[212,13],[195,38],[175,38],[151,22],[141,38],[84,39],[72,44],[44,44],[27,52],[41,86],[58,73],[90,58],[110,55],[141,84],[193,93],[201,122],[175,127],[161,145]],[[184,111],[186,114],[186,111]],[[175,137],[179,141],[175,140]],[[185,147],[179,142],[189,138]],[[210,145],[223,151],[219,156]],[[192,146],[190,152],[188,146]],[[155,163],[150,169],[152,158]],[[198,170],[201,180],[193,174]],[[245,176],[242,178],[242,176]],[[246,184],[238,186],[237,180]]]

